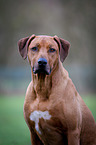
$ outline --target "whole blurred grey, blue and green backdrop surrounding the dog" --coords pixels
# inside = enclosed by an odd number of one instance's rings
[[[0,0],[0,145],[30,145],[23,103],[31,70],[17,43],[33,33],[71,43],[63,65],[96,120],[96,0]]]

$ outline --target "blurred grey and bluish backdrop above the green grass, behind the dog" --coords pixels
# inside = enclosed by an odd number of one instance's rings
[[[17,42],[33,33],[68,40],[65,68],[80,93],[96,93],[95,0],[0,0],[1,94],[25,93],[31,73]]]

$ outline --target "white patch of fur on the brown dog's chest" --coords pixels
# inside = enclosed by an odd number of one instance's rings
[[[43,118],[44,120],[50,120],[51,115],[48,111],[34,111],[30,114],[30,120],[35,122],[35,129],[39,134],[41,134],[41,131],[39,130],[39,119]]]

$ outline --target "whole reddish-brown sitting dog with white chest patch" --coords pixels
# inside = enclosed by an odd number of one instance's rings
[[[32,35],[18,45],[32,71],[24,102],[32,145],[96,145],[95,120],[62,65],[70,43]]]

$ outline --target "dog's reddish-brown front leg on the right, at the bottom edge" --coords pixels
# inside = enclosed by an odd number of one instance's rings
[[[68,145],[80,145],[80,133],[77,129],[68,132]]]

